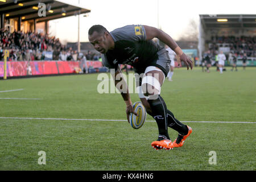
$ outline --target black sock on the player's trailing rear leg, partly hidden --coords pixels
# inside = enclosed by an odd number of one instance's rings
[[[168,119],[168,127],[171,127],[172,129],[179,132],[181,135],[187,135],[188,134],[188,127],[181,123],[179,120],[177,120],[174,117],[174,114],[167,110],[167,119]]]

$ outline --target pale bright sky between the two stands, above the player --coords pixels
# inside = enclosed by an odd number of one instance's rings
[[[79,0],[60,0],[78,5]],[[80,42],[88,42],[88,30],[101,24],[109,31],[127,24],[145,24],[159,27],[172,38],[182,36],[189,20],[199,22],[199,14],[256,14],[255,0],[80,0],[80,5],[90,9],[88,17],[80,15]],[[77,42],[78,16],[49,22],[50,35],[61,42]]]

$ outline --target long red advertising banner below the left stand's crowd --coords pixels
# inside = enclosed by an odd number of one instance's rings
[[[56,75],[74,73],[79,61],[7,61],[7,77],[29,75]],[[101,68],[101,61],[87,61],[87,66]],[[3,61],[0,61],[0,77],[3,77]]]

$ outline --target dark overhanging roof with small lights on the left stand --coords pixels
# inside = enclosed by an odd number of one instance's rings
[[[38,7],[39,2],[46,4],[46,16],[40,17],[38,15],[38,9],[36,7]],[[52,13],[49,13],[48,10],[52,10]],[[22,21],[36,19],[36,22],[44,22],[89,12],[89,9],[85,9],[80,5],[71,5],[70,3],[53,0],[14,0],[0,2],[0,13],[5,14],[6,19],[21,16],[23,17]]]

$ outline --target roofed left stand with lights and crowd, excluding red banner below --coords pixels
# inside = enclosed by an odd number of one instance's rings
[[[40,11],[40,7],[43,8],[42,5],[45,6],[45,15],[39,15],[42,12]],[[70,53],[72,51],[67,46],[61,45],[59,39],[48,36],[49,20],[89,12],[90,10],[80,5],[62,1],[1,1],[1,50],[10,49],[10,60],[19,60],[19,57],[20,60],[24,60],[23,56],[27,49],[32,53],[32,60],[43,60],[45,58],[44,51],[53,52],[52,59],[57,60],[61,51],[67,51],[67,54],[68,51]],[[0,55],[0,59],[2,59],[2,55]]]

